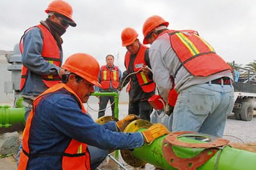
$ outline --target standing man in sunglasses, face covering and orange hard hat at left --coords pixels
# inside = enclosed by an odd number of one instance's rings
[[[64,69],[62,35],[71,25],[73,9],[68,2],[55,0],[45,9],[47,19],[25,30],[21,37],[22,53],[21,96],[24,99],[25,121],[32,109],[32,101],[48,87],[58,84]],[[20,153],[20,151],[19,151]],[[19,163],[19,153],[17,163]]]

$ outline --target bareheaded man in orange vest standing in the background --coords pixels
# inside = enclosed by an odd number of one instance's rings
[[[106,56],[106,65],[101,66],[99,70],[99,83],[101,88],[95,86],[95,91],[100,92],[118,92],[117,87],[121,79],[122,72],[118,66],[114,65],[114,56]],[[111,104],[112,116],[114,116],[114,96],[99,96],[99,114],[98,118],[105,115],[107,102]]]

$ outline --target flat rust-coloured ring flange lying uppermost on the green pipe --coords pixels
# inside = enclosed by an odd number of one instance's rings
[[[187,143],[184,141],[178,140],[180,137],[195,137],[195,138],[204,138],[208,139],[205,143]],[[173,132],[170,135],[167,135],[165,140],[172,145],[181,146],[185,148],[216,148],[227,145],[229,140],[225,140],[222,138],[216,138],[216,136],[197,133],[197,132]]]

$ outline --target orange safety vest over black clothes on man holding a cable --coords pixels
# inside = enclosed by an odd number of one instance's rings
[[[149,47],[140,44],[139,52],[137,53],[137,56],[134,60],[134,72],[139,71],[141,68],[143,68],[146,65],[145,62],[145,52]],[[126,65],[126,69],[128,71],[129,63],[130,63],[130,53],[129,51],[126,52],[126,56],[124,58],[124,63]],[[139,81],[140,87],[142,87],[142,90],[144,92],[152,92],[155,90],[155,83],[152,79],[149,78],[149,76],[145,75],[142,71],[139,71],[139,73],[136,74],[136,77]],[[130,83],[127,87],[127,91],[130,91]]]

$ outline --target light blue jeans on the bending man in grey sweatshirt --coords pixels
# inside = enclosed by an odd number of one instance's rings
[[[193,131],[222,137],[234,107],[232,85],[199,84],[180,91],[173,110],[172,131]]]

